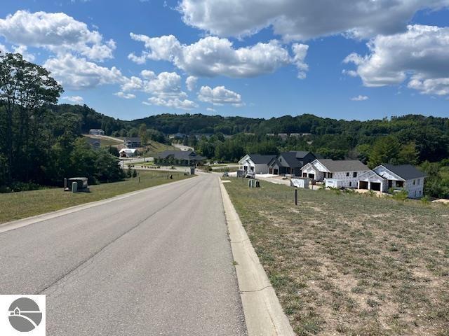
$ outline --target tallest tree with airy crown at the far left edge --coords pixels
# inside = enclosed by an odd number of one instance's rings
[[[4,107],[0,118],[5,120],[0,137],[6,151],[8,183],[13,172],[29,176],[27,162],[32,151],[30,144],[39,137],[34,127],[34,114],[45,104],[58,102],[61,85],[42,66],[27,62],[20,54],[0,55],[0,104]],[[21,169],[16,169],[18,167]]]

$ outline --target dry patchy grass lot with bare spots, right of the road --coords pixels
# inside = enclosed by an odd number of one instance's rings
[[[297,335],[449,335],[448,206],[230,180]]]

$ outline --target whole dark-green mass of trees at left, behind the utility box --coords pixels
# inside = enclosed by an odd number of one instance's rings
[[[58,106],[63,89],[42,66],[20,54],[0,55],[0,191],[123,179],[118,158],[81,137],[82,118]]]

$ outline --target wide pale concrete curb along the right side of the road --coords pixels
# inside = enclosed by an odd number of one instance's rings
[[[295,336],[222,181],[220,189],[248,336]]]

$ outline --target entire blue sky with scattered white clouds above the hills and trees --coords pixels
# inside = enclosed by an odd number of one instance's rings
[[[122,120],[449,117],[448,22],[449,0],[2,0],[0,50]]]

